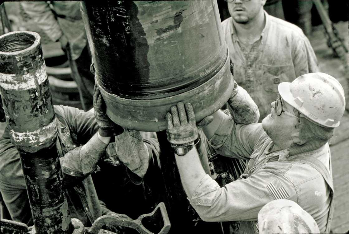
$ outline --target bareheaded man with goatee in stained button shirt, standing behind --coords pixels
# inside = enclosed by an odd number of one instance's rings
[[[264,10],[266,0],[226,1],[231,17],[222,22],[222,30],[234,80],[257,104],[261,121],[270,113],[277,85],[318,72],[318,61],[300,28]]]

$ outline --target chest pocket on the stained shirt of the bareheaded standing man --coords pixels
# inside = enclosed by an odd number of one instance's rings
[[[293,65],[269,66],[262,65],[263,69],[263,88],[267,92],[277,93],[277,86],[281,82],[291,82],[296,77]]]

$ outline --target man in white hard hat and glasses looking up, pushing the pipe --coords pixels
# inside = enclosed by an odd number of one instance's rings
[[[187,150],[175,154],[183,187],[204,221],[230,221],[230,233],[258,232],[258,212],[276,199],[296,202],[321,233],[329,233],[333,179],[327,142],[344,113],[343,88],[328,74],[309,73],[280,83],[278,90],[262,123],[237,124],[217,111],[203,128],[219,154],[248,160],[244,174],[224,187],[205,174],[190,147],[198,131],[191,104],[171,109],[168,140],[187,139]]]

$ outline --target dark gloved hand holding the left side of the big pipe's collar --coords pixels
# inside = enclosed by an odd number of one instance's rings
[[[101,136],[113,136],[114,122],[106,115],[106,105],[97,84],[94,87],[93,106],[96,121],[99,125],[98,133]]]

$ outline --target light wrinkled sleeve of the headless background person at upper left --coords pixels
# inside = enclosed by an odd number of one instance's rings
[[[57,41],[62,36],[58,21],[46,1],[21,1],[20,4],[52,41]]]

